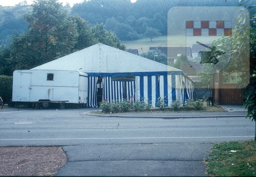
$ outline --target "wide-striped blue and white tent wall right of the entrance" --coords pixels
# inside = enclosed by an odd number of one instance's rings
[[[149,101],[157,107],[158,98],[164,98],[168,106],[172,100],[193,99],[193,85],[183,75],[136,76],[136,100]]]

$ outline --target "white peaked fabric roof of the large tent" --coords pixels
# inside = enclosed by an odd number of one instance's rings
[[[32,68],[86,73],[171,72],[182,70],[101,43]]]

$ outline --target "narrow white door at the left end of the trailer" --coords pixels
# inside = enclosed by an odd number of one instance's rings
[[[20,101],[30,101],[31,73],[21,73]]]

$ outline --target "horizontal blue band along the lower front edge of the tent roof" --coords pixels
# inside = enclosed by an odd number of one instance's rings
[[[134,76],[164,76],[164,75],[182,75],[183,71],[152,71],[152,72],[115,72],[115,73],[96,73],[96,72],[85,72],[88,76],[101,76],[101,77],[109,77],[109,76],[117,76],[122,74],[132,74]]]

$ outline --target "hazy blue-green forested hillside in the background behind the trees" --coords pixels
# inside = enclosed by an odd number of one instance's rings
[[[22,0],[21,0],[22,1]],[[79,15],[90,26],[103,23],[105,28],[116,33],[120,40],[136,40],[144,37],[147,29],[167,34],[167,13],[175,6],[236,6],[239,0],[84,0],[71,8],[70,15]],[[32,11],[26,3],[16,6],[0,6],[0,47],[11,41],[15,33],[27,30],[24,14]]]

